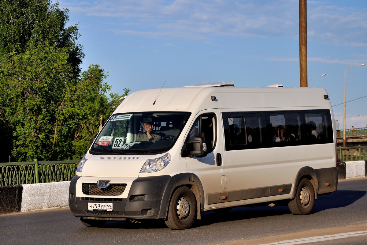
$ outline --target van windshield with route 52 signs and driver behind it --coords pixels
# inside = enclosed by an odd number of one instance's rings
[[[91,154],[158,154],[168,151],[190,112],[113,114],[95,138]]]

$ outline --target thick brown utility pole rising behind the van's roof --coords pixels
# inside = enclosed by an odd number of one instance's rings
[[[307,6],[299,0],[299,87],[307,87]]]

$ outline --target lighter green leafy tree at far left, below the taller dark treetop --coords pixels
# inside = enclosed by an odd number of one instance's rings
[[[19,160],[50,159],[49,135],[55,102],[70,79],[68,54],[48,43],[22,54],[1,57],[3,120],[11,126],[12,156]]]

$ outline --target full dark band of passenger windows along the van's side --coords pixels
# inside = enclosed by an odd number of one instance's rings
[[[330,110],[223,112],[226,151],[333,143]]]

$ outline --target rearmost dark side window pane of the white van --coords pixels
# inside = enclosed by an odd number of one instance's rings
[[[333,143],[333,126],[330,111],[314,110],[304,112],[306,144]]]

